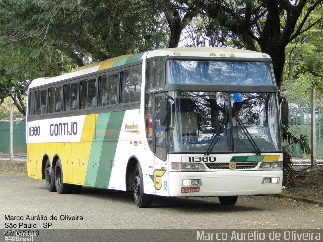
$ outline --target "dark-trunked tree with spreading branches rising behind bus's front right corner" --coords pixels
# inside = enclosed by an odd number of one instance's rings
[[[273,60],[278,85],[282,84],[285,48],[300,34],[321,22],[322,15],[305,25],[312,11],[322,12],[322,0],[245,0],[204,1],[195,3],[211,20],[208,28],[224,29],[238,36],[246,49],[268,53]],[[298,21],[300,20],[300,21]]]

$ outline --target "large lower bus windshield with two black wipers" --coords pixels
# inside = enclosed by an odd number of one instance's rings
[[[275,93],[178,91],[169,96],[170,153],[205,153],[212,142],[209,153],[281,150]]]

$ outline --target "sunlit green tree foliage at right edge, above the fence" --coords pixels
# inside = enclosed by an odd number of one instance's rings
[[[306,25],[319,19],[321,11],[313,11]],[[302,107],[311,103],[311,89],[316,88],[316,105],[323,105],[323,35],[322,23],[314,25],[310,31],[304,32],[286,47],[286,67],[282,95],[289,102]]]

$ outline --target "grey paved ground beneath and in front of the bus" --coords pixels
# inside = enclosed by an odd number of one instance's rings
[[[53,229],[323,229],[323,207],[280,198],[239,197],[235,206],[221,206],[216,197],[156,198],[152,208],[140,209],[132,193],[84,188],[62,195],[16,174],[0,174],[0,191],[0,229],[5,215],[23,216],[37,229],[52,215],[58,217],[50,221]],[[26,221],[27,215],[47,220]]]

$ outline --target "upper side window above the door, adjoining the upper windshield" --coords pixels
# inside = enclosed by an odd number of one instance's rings
[[[163,70],[163,59],[154,59],[153,61],[147,62],[146,91],[148,91],[150,88],[165,84]]]

